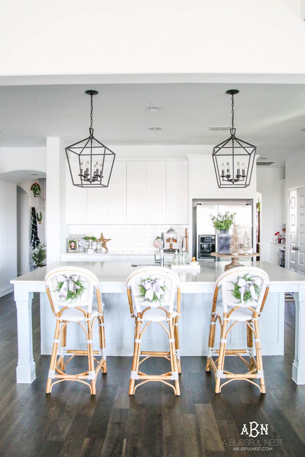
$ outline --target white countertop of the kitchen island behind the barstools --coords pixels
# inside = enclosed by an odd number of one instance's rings
[[[273,265],[269,262],[243,262],[245,266],[257,266],[266,271],[270,284],[305,283],[305,276],[294,271]],[[94,273],[102,285],[125,285],[128,275],[139,267],[131,266],[131,262],[55,262],[38,268],[25,275],[11,280],[11,284],[44,283],[46,273],[57,266],[75,266],[86,268]],[[154,267],[152,267],[154,268]],[[225,262],[202,262],[200,271],[177,271],[182,284],[213,285],[218,276],[224,272]]]

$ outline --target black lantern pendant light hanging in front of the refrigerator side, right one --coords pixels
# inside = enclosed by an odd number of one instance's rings
[[[213,161],[218,187],[248,187],[254,164],[256,146],[235,137],[234,96],[239,90],[226,93],[232,97],[231,136],[213,149]]]

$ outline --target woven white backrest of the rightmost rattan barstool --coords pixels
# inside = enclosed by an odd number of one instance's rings
[[[246,280],[239,281],[240,278],[243,277],[246,277]],[[234,294],[234,288],[236,291],[235,285],[238,283],[241,284],[241,286],[237,287],[237,290],[243,295],[243,301],[241,300],[241,297],[235,297],[236,293]],[[240,306],[241,308],[251,306],[259,312],[266,288],[269,287],[269,277],[266,271],[263,271],[261,268],[255,266],[239,266],[220,275],[215,282],[215,288],[216,287],[221,287],[222,303],[225,313],[227,312],[228,307],[231,306]],[[246,291],[246,296],[248,298],[251,297],[248,300],[245,299],[244,295]]]

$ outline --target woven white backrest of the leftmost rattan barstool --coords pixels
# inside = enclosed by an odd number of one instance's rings
[[[63,282],[63,277],[67,279],[66,284],[68,290],[71,290],[72,287],[74,287],[72,279],[75,281],[79,280],[79,283],[83,288],[80,296],[77,296],[76,298],[65,298],[63,295],[65,294],[65,291],[61,291],[60,287],[60,284]],[[96,289],[99,289],[100,286],[97,277],[91,273],[91,271],[78,266],[61,266],[48,271],[45,276],[45,285],[50,292],[56,313],[58,313],[63,306],[68,306],[69,308],[87,306],[88,313],[91,313],[93,292],[96,291]]]

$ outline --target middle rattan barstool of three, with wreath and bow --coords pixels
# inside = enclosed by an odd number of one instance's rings
[[[143,288],[145,297],[143,297]],[[141,294],[142,288],[142,294]],[[160,292],[160,288],[162,292]],[[174,309],[177,292],[177,307]],[[180,280],[176,273],[168,268],[155,266],[135,270],[127,279],[127,294],[131,317],[135,318],[134,357],[130,374],[129,395],[136,388],[149,381],[160,381],[174,389],[180,395],[179,373],[180,349],[178,317],[180,316]],[[156,298],[154,298],[156,297]],[[159,299],[159,298],[160,299]],[[150,301],[150,299],[153,299]],[[141,324],[144,324],[141,329]],[[148,325],[157,323],[166,331],[169,351],[141,351],[141,342]],[[168,329],[165,324],[168,324]],[[144,358],[140,361],[140,356]],[[150,357],[165,357],[171,362],[171,371],[160,375],[148,375],[139,371],[139,365]],[[134,385],[135,380],[141,380]],[[175,381],[175,385],[168,381]]]

